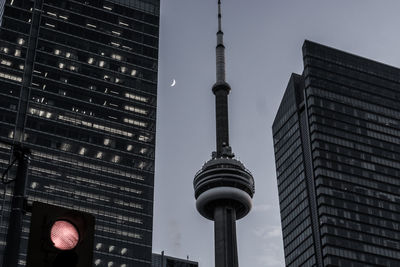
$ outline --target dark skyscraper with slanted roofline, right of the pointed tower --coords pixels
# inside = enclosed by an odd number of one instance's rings
[[[273,136],[287,266],[398,266],[400,69],[305,41]]]

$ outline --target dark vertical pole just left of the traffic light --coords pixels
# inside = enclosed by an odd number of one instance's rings
[[[21,145],[14,145],[14,155],[18,161],[14,181],[14,195],[7,231],[7,241],[3,257],[3,267],[17,267],[21,243],[22,223],[25,214],[25,192],[30,163],[30,151]],[[5,196],[4,196],[5,197]]]

